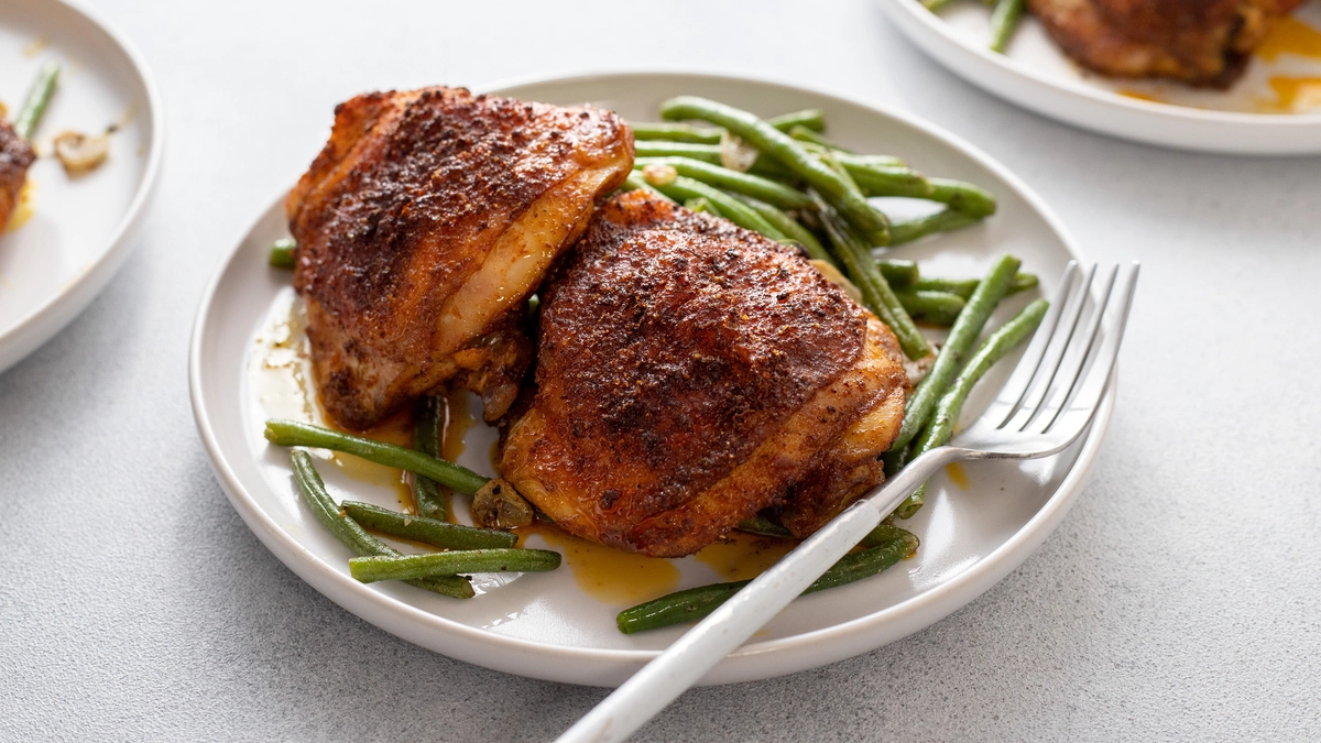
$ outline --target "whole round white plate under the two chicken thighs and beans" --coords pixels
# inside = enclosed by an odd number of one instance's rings
[[[1013,250],[1050,287],[1067,260],[1079,258],[1058,219],[1004,168],[930,124],[868,104],[771,82],[700,74],[608,74],[547,79],[499,89],[523,99],[560,104],[592,102],[633,120],[655,119],[657,106],[678,94],[715,98],[764,115],[824,108],[830,135],[864,152],[901,155],[930,173],[966,178],[1000,198],[983,225],[896,251],[942,275],[980,276],[996,255]],[[330,108],[326,108],[329,123]],[[308,152],[308,160],[313,157]],[[403,584],[365,586],[349,576],[349,551],[314,521],[291,480],[288,452],[262,438],[268,416],[300,414],[258,383],[271,370],[262,349],[280,341],[288,317],[291,275],[267,267],[273,239],[287,237],[283,196],[247,231],[202,300],[193,334],[190,385],[202,440],[234,508],[285,565],[350,612],[406,640],[446,656],[510,673],[590,685],[617,685],[686,628],[621,635],[614,615],[633,600],[602,602],[579,580],[575,555],[555,572],[518,576],[476,599],[444,599]],[[1032,297],[1001,307],[1004,321]],[[288,353],[276,364],[289,360]],[[995,370],[970,414],[980,412],[1015,360]],[[269,381],[268,378],[266,379]],[[288,381],[285,379],[288,383]],[[264,398],[264,399],[263,399]],[[905,524],[922,538],[917,557],[868,580],[799,599],[753,643],[719,665],[705,684],[746,681],[830,664],[877,648],[945,617],[1013,570],[1055,528],[1086,479],[1110,420],[1114,394],[1090,435],[1069,452],[1030,464],[967,467],[968,490],[945,476],[929,502]],[[469,440],[460,463],[491,472],[485,438]],[[320,461],[332,493],[398,508],[395,488],[371,487]],[[538,545],[540,537],[532,537]],[[555,545],[551,545],[552,547]],[[622,555],[622,554],[621,554]],[[678,587],[725,580],[695,558],[668,561]],[[668,566],[664,566],[670,570]],[[664,592],[664,591],[660,591]],[[641,596],[649,599],[651,596]]]

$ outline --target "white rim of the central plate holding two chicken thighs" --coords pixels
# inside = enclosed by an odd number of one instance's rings
[[[530,85],[572,85],[643,77],[696,77],[733,85],[753,83],[781,87],[810,95],[834,98],[841,103],[864,107],[873,115],[884,116],[896,120],[900,124],[909,126],[938,139],[942,144],[951,147],[960,155],[982,167],[988,168],[997,177],[1003,178],[1004,182],[1013,188],[1017,194],[1037,212],[1037,214],[1055,233],[1063,247],[1071,254],[1073,258],[1079,260],[1085,259],[1077,241],[1069,233],[1067,227],[1058,218],[1058,215],[1032,188],[1009,172],[1008,168],[943,128],[905,111],[884,110],[878,103],[869,100],[865,97],[836,93],[827,87],[806,87],[793,82],[758,75],[736,75],[668,69],[524,75],[481,86],[480,91],[499,94]],[[486,632],[481,628],[449,620],[394,596],[374,591],[366,584],[354,582],[346,574],[334,570],[332,566],[312,554],[310,550],[304,547],[291,534],[280,529],[275,520],[256,504],[252,494],[244,489],[238,473],[226,457],[225,451],[217,439],[215,430],[210,422],[210,414],[206,407],[206,398],[209,397],[209,393],[202,366],[202,353],[206,342],[205,332],[206,325],[211,319],[215,295],[242,253],[247,235],[251,234],[256,225],[268,218],[272,209],[279,208],[284,198],[284,193],[285,192],[280,192],[271,204],[263,208],[256,218],[243,229],[238,239],[232,242],[232,249],[230,249],[226,258],[215,270],[215,275],[207,284],[206,292],[198,304],[192,338],[189,341],[189,397],[192,401],[198,435],[201,436],[207,451],[211,469],[215,472],[222,489],[254,534],[276,555],[277,559],[280,559],[280,562],[312,584],[312,587],[318,592],[349,612],[398,637],[453,658],[531,678],[583,685],[616,685],[631,674],[635,668],[639,668],[646,661],[658,656],[660,650],[552,645],[543,641]],[[1015,531],[1008,539],[1000,543],[984,558],[979,559],[976,563],[950,580],[923,591],[904,603],[878,612],[834,624],[822,629],[793,635],[790,637],[745,644],[734,653],[731,653],[729,657],[723,660],[720,665],[717,665],[716,669],[713,669],[701,681],[701,684],[728,684],[771,678],[835,662],[902,639],[948,616],[954,611],[958,611],[971,600],[976,599],[987,588],[997,583],[1009,571],[1021,565],[1021,562],[1026,559],[1026,557],[1037,546],[1040,546],[1042,541],[1045,541],[1045,538],[1054,530],[1058,522],[1073,506],[1074,501],[1077,501],[1077,496],[1081,493],[1092,467],[1095,465],[1096,453],[1103,443],[1106,430],[1108,428],[1116,398],[1116,383],[1118,374],[1111,377],[1110,387],[1107,389],[1102,409],[1098,410],[1096,419],[1086,434],[1086,440],[1078,453],[1078,461],[1070,468],[1069,473],[1061,481],[1055,492],[1050,494],[1038,512],[1028,520],[1021,529]],[[894,620],[894,615],[900,615],[901,617],[908,615],[909,620],[897,621]],[[884,628],[886,624],[897,625],[898,633],[889,640],[875,643],[872,637],[880,633],[878,629]],[[872,631],[871,635],[867,633],[868,629]],[[445,637],[448,641],[436,643],[435,635],[437,632],[443,633],[443,637],[448,636]],[[782,661],[777,664],[775,658],[785,657],[795,650],[802,653],[803,649],[816,645],[823,640],[832,640],[835,635],[841,635],[844,637],[853,636],[855,640],[852,644],[848,644],[848,646],[839,648],[843,650],[841,653],[816,653],[814,657],[806,658],[806,662],[799,660],[787,665]],[[465,641],[469,641],[470,646],[464,646]],[[440,648],[441,645],[444,645],[444,649]],[[601,668],[594,674],[583,674],[567,672],[567,669],[556,666],[551,662],[535,665],[526,662],[506,662],[502,658],[494,658],[493,656],[482,652],[483,648],[490,646],[497,646],[501,650],[514,653],[535,652],[536,654],[551,660],[563,658],[573,661],[594,661],[594,664],[604,664],[606,668]]]

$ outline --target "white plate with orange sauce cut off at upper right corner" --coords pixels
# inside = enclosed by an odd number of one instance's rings
[[[952,73],[1045,116],[1100,134],[1162,147],[1242,155],[1321,152],[1321,107],[1312,112],[1260,112],[1277,104],[1273,77],[1321,78],[1321,59],[1279,54],[1254,58],[1227,91],[1170,82],[1112,81],[1069,59],[1030,15],[1005,54],[987,48],[989,11],[958,3],[929,12],[918,0],[881,0],[894,25]],[[1321,29],[1321,3],[1293,20]]]

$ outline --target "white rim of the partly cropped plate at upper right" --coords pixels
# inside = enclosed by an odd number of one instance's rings
[[[1173,103],[1161,103],[1155,100],[1141,100],[1137,98],[1125,98],[1123,95],[1110,93],[1102,89],[1089,87],[1086,85],[1074,83],[1071,81],[1059,79],[1052,75],[1046,75],[1028,65],[1017,62],[1004,54],[997,54],[989,49],[982,49],[967,44],[963,38],[956,36],[947,22],[943,22],[939,16],[931,13],[922,8],[917,0],[881,0],[881,5],[886,9],[886,15],[894,21],[894,26],[914,45],[922,49],[929,57],[933,57],[942,66],[947,67],[950,71],[955,73],[958,77],[974,83],[976,87],[1011,100],[1012,103],[1037,111],[1045,116],[1050,116],[1058,120],[1063,120],[1073,126],[1089,128],[1091,131],[1098,131],[1108,134],[1112,136],[1122,136],[1124,139],[1133,139],[1145,143],[1161,144],[1166,147],[1176,147],[1180,149],[1197,149],[1207,152],[1221,152],[1221,153],[1238,153],[1238,155],[1297,155],[1297,153],[1313,153],[1321,152],[1321,114],[1248,114],[1240,111],[1217,111],[1207,108],[1194,108],[1192,106],[1176,106]],[[900,20],[896,15],[902,15]],[[1123,111],[1125,115],[1141,116],[1148,122],[1161,120],[1180,120],[1185,124],[1214,128],[1223,132],[1227,128],[1234,128],[1242,131],[1240,127],[1250,127],[1258,130],[1259,134],[1264,135],[1267,132],[1283,134],[1288,132],[1292,135],[1308,134],[1312,131],[1317,132],[1317,141],[1306,147],[1289,147],[1283,148],[1244,148],[1244,147],[1222,147],[1222,145],[1209,145],[1197,143],[1176,143],[1168,139],[1161,139],[1157,136],[1144,136],[1133,132],[1122,132],[1114,127],[1106,127],[1096,124],[1094,122],[1082,122],[1067,114],[1062,114],[1058,110],[1052,110],[1044,104],[1028,103],[1022,99],[1021,94],[1009,93],[1000,87],[995,87],[984,83],[976,77],[976,74],[962,69],[960,66],[942,58],[939,54],[934,53],[929,46],[929,40],[914,34],[909,28],[909,22],[918,24],[925,29],[929,37],[939,38],[941,42],[946,44],[951,52],[959,54],[971,54],[975,59],[982,63],[991,65],[992,69],[997,70],[1000,74],[1013,75],[1025,82],[1032,83],[1041,91],[1048,91],[1049,94],[1059,94],[1067,97],[1075,103],[1096,104],[1108,108],[1116,108]]]

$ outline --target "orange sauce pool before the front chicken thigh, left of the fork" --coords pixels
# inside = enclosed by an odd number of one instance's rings
[[[584,594],[616,607],[630,607],[663,596],[679,587],[679,568],[664,558],[625,553],[575,537],[551,524],[534,524],[515,530],[518,546],[540,534],[546,543],[564,555],[573,582]]]

